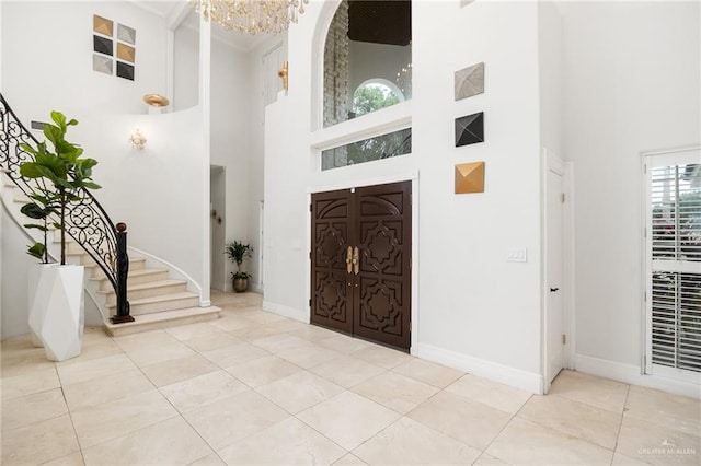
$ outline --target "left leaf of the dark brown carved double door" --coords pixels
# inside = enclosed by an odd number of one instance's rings
[[[311,323],[353,334],[346,251],[352,212],[350,191],[311,198]]]

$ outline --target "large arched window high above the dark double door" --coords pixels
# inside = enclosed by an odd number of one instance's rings
[[[341,1],[324,47],[324,127],[411,98],[411,0]]]

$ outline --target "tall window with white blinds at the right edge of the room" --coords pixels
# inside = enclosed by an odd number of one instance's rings
[[[701,151],[651,155],[645,174],[646,371],[683,377],[701,373]]]

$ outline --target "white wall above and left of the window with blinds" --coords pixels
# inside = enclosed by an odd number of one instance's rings
[[[576,351],[640,373],[641,152],[701,142],[698,2],[562,3],[575,164]],[[599,368],[600,369],[600,368]]]

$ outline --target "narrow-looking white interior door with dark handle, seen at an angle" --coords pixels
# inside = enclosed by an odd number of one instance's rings
[[[563,173],[548,170],[547,179],[547,378],[548,385],[565,366],[563,302]]]

